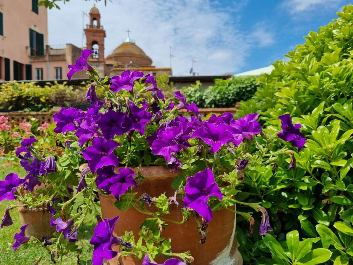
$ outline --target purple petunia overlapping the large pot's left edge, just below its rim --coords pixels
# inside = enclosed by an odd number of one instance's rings
[[[120,196],[124,194],[130,186],[137,187],[136,181],[133,178],[135,172],[131,169],[119,168],[119,174],[113,173],[109,178],[104,179],[98,188],[105,190],[108,193],[112,193],[117,200],[120,200]]]

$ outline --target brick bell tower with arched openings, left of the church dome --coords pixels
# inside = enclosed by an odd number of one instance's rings
[[[89,59],[89,64],[95,66],[104,78],[106,75],[106,71],[104,71],[104,38],[106,37],[106,31],[101,25],[101,14],[96,5],[89,12],[89,21],[85,28],[86,48],[94,51]]]

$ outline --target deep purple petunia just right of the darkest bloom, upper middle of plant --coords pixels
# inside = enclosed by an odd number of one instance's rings
[[[127,113],[126,113],[127,115]],[[122,128],[129,128],[129,130],[137,130],[140,135],[145,132],[146,123],[152,119],[152,114],[145,111],[144,108],[139,108],[135,105],[131,106],[131,114],[122,123]]]

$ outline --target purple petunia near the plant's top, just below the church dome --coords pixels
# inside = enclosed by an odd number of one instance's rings
[[[125,70],[121,72],[121,76],[113,76],[110,79],[110,90],[118,92],[120,89],[125,89],[128,92],[132,92],[134,87],[134,81],[143,77],[143,72]]]

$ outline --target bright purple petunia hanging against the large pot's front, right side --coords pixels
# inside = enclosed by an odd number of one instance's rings
[[[212,219],[211,207],[207,204],[208,198],[215,196],[222,200],[220,188],[215,183],[215,177],[210,169],[195,174],[195,177],[188,177],[185,186],[184,207],[194,209],[207,222]]]

